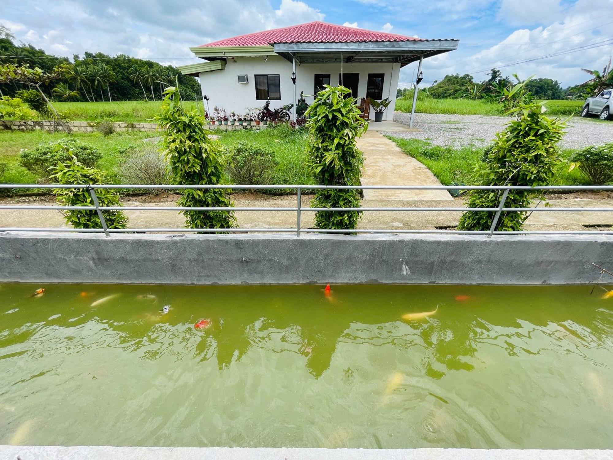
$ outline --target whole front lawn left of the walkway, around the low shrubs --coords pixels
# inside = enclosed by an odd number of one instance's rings
[[[240,131],[217,131],[219,141],[231,151],[240,141],[268,147],[275,152],[278,166],[273,172],[275,184],[312,184],[313,178],[306,166],[307,133],[303,129],[292,129],[289,126]],[[45,178],[37,177],[18,163],[19,152],[28,150],[43,142],[52,142],[68,137],[68,134],[50,134],[44,131],[0,131],[0,182],[4,183],[37,183],[47,182]],[[70,134],[73,139],[97,148],[102,158],[97,167],[107,172],[113,183],[121,183],[120,171],[122,164],[143,150],[155,151],[159,145],[143,142],[148,137],[161,136],[155,132],[115,132],[103,136],[99,132]],[[2,174],[2,164],[5,164]]]

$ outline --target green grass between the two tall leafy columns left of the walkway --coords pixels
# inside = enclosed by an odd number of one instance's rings
[[[221,144],[229,149],[241,141],[272,149],[279,163],[274,172],[273,184],[314,183],[307,167],[308,134],[305,129],[278,125],[261,130],[219,131],[219,136]]]

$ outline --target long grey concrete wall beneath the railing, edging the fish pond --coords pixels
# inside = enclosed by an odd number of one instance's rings
[[[0,232],[1,282],[593,283],[595,236],[161,235]],[[611,282],[608,278],[603,282]]]

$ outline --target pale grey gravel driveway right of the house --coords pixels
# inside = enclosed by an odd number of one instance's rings
[[[394,121],[409,124],[409,113],[394,112]],[[482,147],[489,144],[496,132],[509,121],[506,117],[490,115],[441,115],[438,113],[417,113],[414,128],[422,132],[385,132],[390,136],[405,139],[424,139],[436,145],[474,145]],[[613,121],[601,122],[573,117],[569,121],[562,148],[583,148],[588,145],[613,142]]]

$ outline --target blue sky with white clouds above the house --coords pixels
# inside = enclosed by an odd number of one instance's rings
[[[446,74],[482,81],[497,67],[566,87],[590,78],[581,67],[603,69],[611,58],[612,7],[613,0],[0,0],[0,24],[17,42],[58,56],[124,53],[176,66],[198,62],[191,46],[319,20],[459,39],[458,50],[425,59],[422,84]],[[410,84],[415,67],[403,67],[399,86]]]

